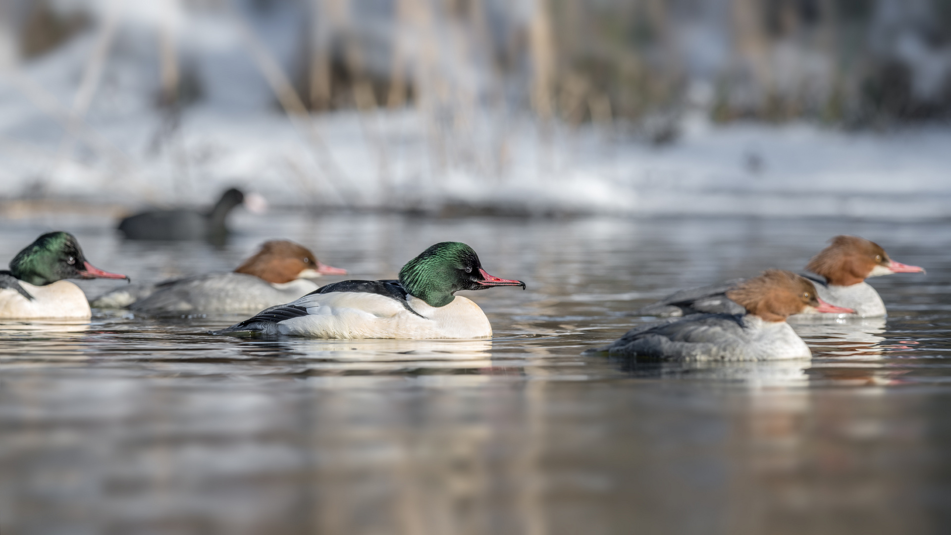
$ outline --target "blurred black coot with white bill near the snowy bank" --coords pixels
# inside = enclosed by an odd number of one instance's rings
[[[126,217],[118,228],[131,240],[222,240],[228,233],[225,225],[228,214],[241,204],[252,211],[266,206],[260,195],[245,196],[241,189],[230,188],[210,210],[149,210]]]

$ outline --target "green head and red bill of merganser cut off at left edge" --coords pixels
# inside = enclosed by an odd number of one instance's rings
[[[68,232],[47,232],[10,260],[10,274],[33,286],[63,279],[126,279],[126,275],[95,268],[83,256],[79,242]]]

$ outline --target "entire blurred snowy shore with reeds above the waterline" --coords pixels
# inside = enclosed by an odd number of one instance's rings
[[[946,0],[0,7],[8,216],[951,216]]]

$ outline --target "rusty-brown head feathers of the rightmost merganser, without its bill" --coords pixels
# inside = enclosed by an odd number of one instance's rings
[[[830,285],[857,285],[876,266],[887,268],[891,262],[885,249],[858,236],[836,236],[830,242],[829,247],[812,257],[805,267],[824,276]]]

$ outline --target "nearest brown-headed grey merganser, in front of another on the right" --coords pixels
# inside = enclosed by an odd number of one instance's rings
[[[846,313],[851,308],[825,303],[812,283],[782,269],[728,290],[743,314],[692,314],[659,326],[636,327],[598,351],[678,361],[765,361],[809,358],[803,339],[786,324],[805,311]]]

